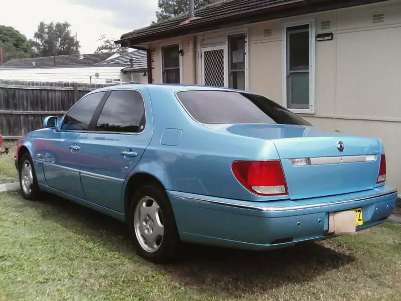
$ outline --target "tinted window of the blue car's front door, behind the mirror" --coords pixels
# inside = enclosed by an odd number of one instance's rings
[[[88,130],[93,113],[106,92],[93,93],[82,98],[64,118],[62,129]]]

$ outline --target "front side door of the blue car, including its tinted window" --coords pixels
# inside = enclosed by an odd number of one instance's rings
[[[105,92],[84,96],[65,115],[59,130],[51,139],[35,141],[37,160],[42,161],[46,183],[49,187],[85,199],[82,191],[82,158],[78,144],[86,138],[90,121]]]

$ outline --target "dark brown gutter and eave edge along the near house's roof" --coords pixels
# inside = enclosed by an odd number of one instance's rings
[[[178,28],[173,26],[164,31],[150,32],[133,37],[127,36],[126,38],[123,38],[125,36],[123,35],[122,39],[115,41],[115,43],[124,45],[123,47],[128,47],[125,46],[128,44],[128,41],[135,44],[148,43],[199,32],[384,1],[388,0],[293,0],[286,4],[276,4],[264,9],[255,9],[240,14],[228,15],[224,18],[216,17],[205,22],[200,21],[202,18],[197,18],[196,22],[183,23]]]

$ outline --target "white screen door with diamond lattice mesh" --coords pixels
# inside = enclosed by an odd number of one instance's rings
[[[202,84],[228,87],[227,48],[225,46],[202,49]]]

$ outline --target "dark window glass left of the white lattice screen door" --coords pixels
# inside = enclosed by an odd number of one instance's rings
[[[179,84],[179,45],[161,48],[163,56],[163,83]]]

